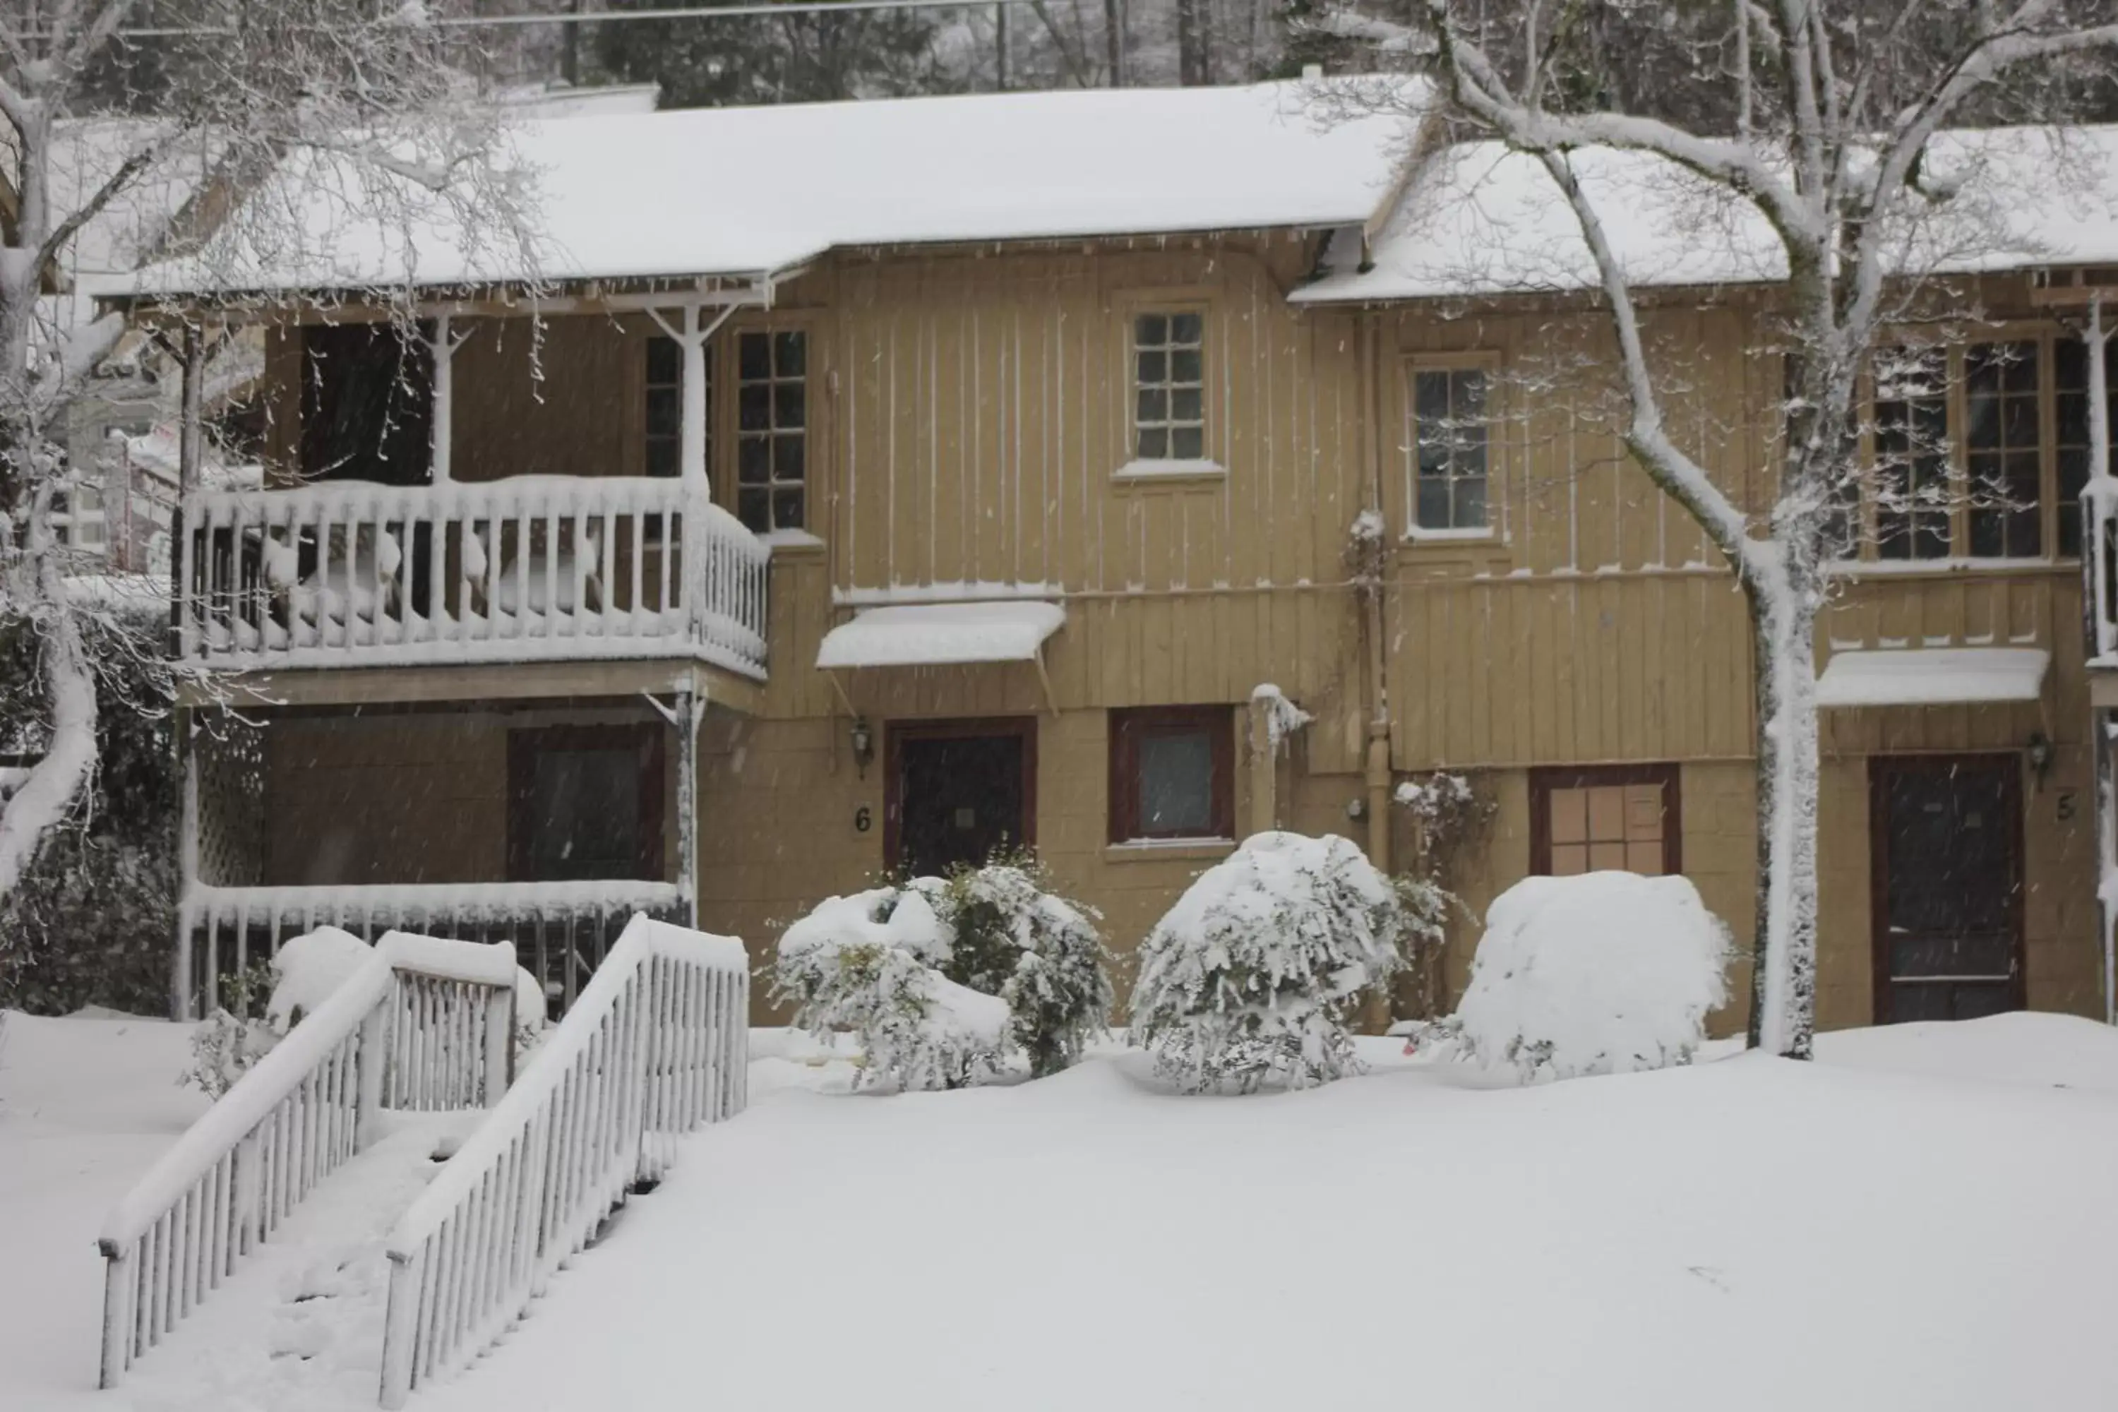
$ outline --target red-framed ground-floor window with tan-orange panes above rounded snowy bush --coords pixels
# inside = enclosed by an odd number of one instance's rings
[[[1529,811],[1531,872],[1682,872],[1673,764],[1531,771]]]

